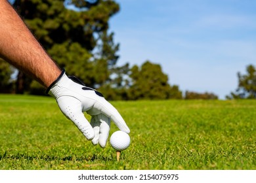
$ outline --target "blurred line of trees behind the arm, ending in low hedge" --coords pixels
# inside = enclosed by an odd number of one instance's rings
[[[119,44],[108,22],[119,12],[112,0],[16,0],[13,5],[32,33],[67,75],[75,75],[109,100],[182,99],[159,64],[117,66]],[[0,59],[0,92],[45,95],[45,88]],[[217,99],[186,92],[185,99]]]

